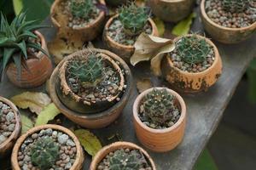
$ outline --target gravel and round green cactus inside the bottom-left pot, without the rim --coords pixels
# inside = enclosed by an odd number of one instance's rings
[[[17,159],[22,170],[70,169],[76,160],[76,152],[76,144],[70,136],[47,128],[24,140]]]

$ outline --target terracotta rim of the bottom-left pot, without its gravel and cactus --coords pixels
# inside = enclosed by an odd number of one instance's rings
[[[12,152],[12,156],[11,156],[11,163],[12,163],[13,170],[21,170],[17,158],[18,158],[20,146],[21,146],[21,144],[23,144],[24,140],[26,140],[26,138],[31,136],[32,133],[37,133],[38,131],[40,131],[42,129],[47,129],[47,128],[51,128],[51,129],[66,133],[69,137],[71,137],[73,139],[73,142],[76,144],[77,154],[76,154],[76,160],[73,162],[73,166],[70,168],[70,170],[82,169],[83,163],[84,163],[84,150],[82,149],[82,147],[79,143],[79,139],[74,135],[73,132],[71,132],[66,127],[61,127],[59,125],[54,125],[54,124],[47,124],[47,125],[41,125],[38,127],[32,127],[25,134],[20,136],[20,138],[17,140],[14,150]]]

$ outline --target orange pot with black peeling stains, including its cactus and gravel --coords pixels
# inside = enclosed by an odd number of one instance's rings
[[[183,93],[207,91],[222,73],[218,48],[207,38],[187,35],[174,39],[175,48],[161,63],[163,76]]]

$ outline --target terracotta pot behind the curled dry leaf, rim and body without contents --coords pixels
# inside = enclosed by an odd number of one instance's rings
[[[111,37],[108,36],[108,28],[112,24],[113,20],[118,17],[118,14],[110,18],[104,28],[103,31],[103,42],[106,43],[110,51],[112,51],[114,54],[118,54],[122,59],[125,60],[126,63],[130,63],[131,55],[134,53],[134,46],[131,45],[123,45],[119,42],[113,41]],[[148,22],[152,26],[152,36],[159,36],[157,27],[154,24],[154,21],[149,19]]]

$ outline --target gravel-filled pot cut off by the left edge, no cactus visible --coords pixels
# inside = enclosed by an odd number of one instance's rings
[[[10,153],[20,133],[20,112],[9,99],[0,96],[0,158]]]

